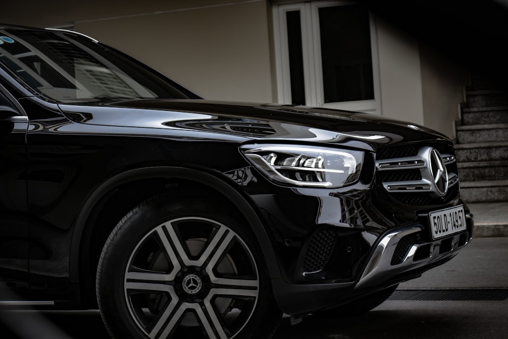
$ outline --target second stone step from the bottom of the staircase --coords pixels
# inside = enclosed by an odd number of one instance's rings
[[[462,181],[508,180],[508,160],[457,163]]]

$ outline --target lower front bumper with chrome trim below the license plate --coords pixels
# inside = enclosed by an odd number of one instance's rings
[[[426,270],[446,263],[472,239],[472,214],[466,212],[467,230],[441,239],[425,241],[425,227],[416,224],[390,229],[376,244],[354,282],[290,284],[272,281],[277,303],[286,314],[303,316],[326,310],[417,278]]]

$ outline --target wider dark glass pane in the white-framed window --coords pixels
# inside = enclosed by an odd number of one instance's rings
[[[322,7],[319,21],[325,103],[374,99],[368,12]]]

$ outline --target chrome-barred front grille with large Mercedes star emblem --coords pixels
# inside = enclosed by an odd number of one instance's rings
[[[455,152],[449,145],[380,149],[376,173],[386,192],[407,205],[442,204],[459,192]]]

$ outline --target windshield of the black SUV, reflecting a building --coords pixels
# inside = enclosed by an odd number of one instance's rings
[[[198,98],[122,53],[61,30],[0,29],[0,61],[60,102]]]

